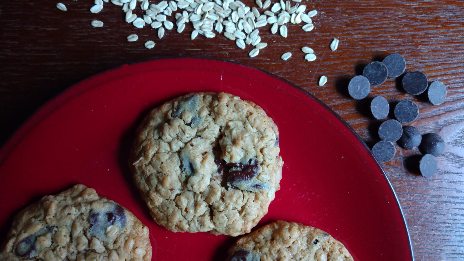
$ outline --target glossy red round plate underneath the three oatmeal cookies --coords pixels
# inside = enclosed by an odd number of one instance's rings
[[[127,158],[151,108],[191,91],[226,91],[260,105],[280,132],[281,189],[258,227],[281,219],[342,241],[355,261],[412,261],[398,199],[360,137],[334,111],[282,78],[232,62],[157,59],[98,74],[45,104],[0,151],[1,240],[13,214],[76,183],[150,228],[153,260],[223,261],[237,239],[157,225]]]

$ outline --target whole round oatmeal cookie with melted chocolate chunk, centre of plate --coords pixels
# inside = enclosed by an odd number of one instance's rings
[[[261,107],[197,92],[148,113],[129,165],[158,224],[236,236],[267,213],[283,161],[277,126]]]

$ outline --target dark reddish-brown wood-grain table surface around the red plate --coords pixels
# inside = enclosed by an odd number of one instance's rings
[[[0,144],[42,104],[84,78],[133,61],[182,55],[232,60],[283,77],[328,104],[372,146],[380,121],[369,116],[367,99],[347,95],[348,81],[367,63],[398,52],[406,58],[406,71],[445,83],[445,103],[409,96],[394,78],[371,88],[369,97],[381,95],[392,103],[412,99],[419,117],[410,125],[440,134],[446,148],[432,178],[417,174],[418,150],[398,145],[393,160],[381,166],[400,199],[415,260],[464,260],[463,0],[303,0],[307,10],[319,11],[315,29],[303,32],[303,24],[288,24],[285,39],[269,33],[269,25],[262,27],[268,46],[254,58],[248,56],[250,47],[241,50],[222,35],[190,40],[191,25],[180,34],[174,26],[158,39],[150,26],[137,29],[124,22],[121,7],[111,3],[93,14],[92,0],[62,1],[66,12],[56,7],[58,0],[0,2]],[[140,16],[141,10],[135,13]],[[92,27],[92,20],[104,26]],[[132,33],[138,41],[126,40]],[[335,52],[329,49],[333,38],[340,40]],[[148,40],[155,48],[144,47]],[[303,46],[315,50],[315,61],[303,59]],[[288,61],[280,59],[284,52],[293,54]],[[322,75],[328,82],[319,87]]]

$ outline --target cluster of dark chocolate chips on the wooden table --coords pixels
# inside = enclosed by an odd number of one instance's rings
[[[352,78],[348,84],[349,95],[355,99],[366,98],[371,86],[379,86],[387,77],[396,78],[406,70],[406,60],[397,53],[388,55],[382,62],[371,62],[366,65],[362,75]],[[431,104],[442,104],[446,98],[446,86],[440,81],[429,81],[424,73],[419,71],[407,72],[402,80],[403,89],[412,95],[419,95],[427,91]],[[428,90],[427,90],[428,88]],[[388,116],[390,105],[387,99],[377,96],[370,103],[374,118],[381,120]],[[388,162],[395,156],[396,149],[393,142],[397,142],[406,150],[419,150],[425,154],[419,162],[422,176],[431,177],[437,171],[437,159],[445,150],[445,141],[436,133],[421,136],[419,130],[412,126],[401,124],[412,123],[419,116],[419,107],[413,101],[404,99],[395,105],[393,111],[396,119],[384,121],[379,127],[381,141],[372,148],[374,157],[379,162]]]

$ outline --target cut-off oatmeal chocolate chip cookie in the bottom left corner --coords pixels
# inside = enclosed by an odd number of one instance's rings
[[[151,261],[149,231],[129,210],[79,184],[19,212],[2,261]]]

